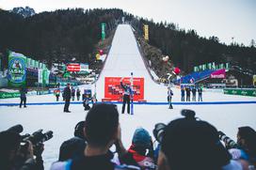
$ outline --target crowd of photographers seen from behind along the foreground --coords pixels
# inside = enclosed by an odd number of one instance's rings
[[[256,131],[240,127],[237,142],[191,110],[182,118],[150,132],[139,127],[125,148],[121,141],[120,114],[115,104],[96,103],[74,135],[59,148],[51,170],[252,170],[256,166]],[[29,138],[28,138],[29,139]],[[153,142],[154,141],[154,142]],[[0,132],[1,170],[41,170],[43,144],[26,141],[19,132]],[[113,149],[113,146],[115,149]],[[115,150],[115,151],[113,151]]]

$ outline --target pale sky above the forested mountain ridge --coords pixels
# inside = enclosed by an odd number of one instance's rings
[[[217,37],[248,46],[256,40],[256,0],[0,0],[0,8],[34,8],[37,13],[59,8],[121,8],[154,22],[176,23],[200,37]]]

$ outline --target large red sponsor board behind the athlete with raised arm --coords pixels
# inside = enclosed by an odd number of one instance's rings
[[[122,100],[123,89],[120,86],[121,77],[104,78],[104,98],[110,100]],[[131,77],[125,77],[123,84],[129,84]],[[134,78],[134,100],[144,100],[144,78]]]

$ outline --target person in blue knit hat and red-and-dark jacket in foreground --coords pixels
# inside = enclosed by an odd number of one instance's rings
[[[147,130],[143,128],[136,129],[131,147],[129,147],[128,153],[120,161],[138,165],[141,169],[155,169],[152,137]]]

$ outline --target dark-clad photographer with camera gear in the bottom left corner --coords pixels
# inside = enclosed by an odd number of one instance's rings
[[[15,131],[0,132],[0,169],[43,170],[43,145],[33,149],[30,141],[21,146],[22,136]],[[34,155],[36,159],[34,159]]]

